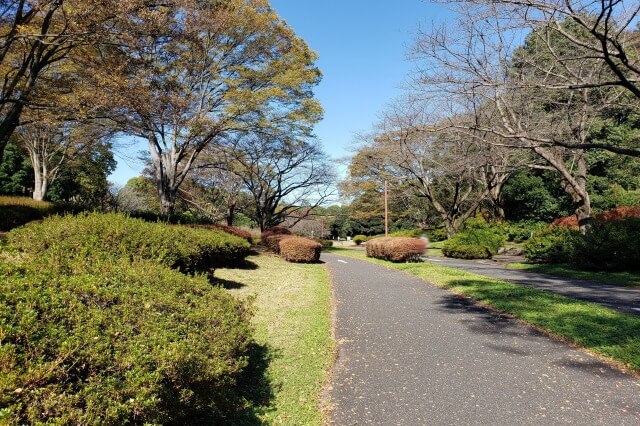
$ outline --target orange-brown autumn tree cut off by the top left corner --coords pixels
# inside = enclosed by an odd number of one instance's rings
[[[0,1],[0,161],[25,108],[55,108],[33,98],[47,75],[78,48],[121,41],[116,22],[150,8],[144,0]]]

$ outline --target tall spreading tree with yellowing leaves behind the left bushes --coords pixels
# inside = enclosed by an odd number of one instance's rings
[[[129,25],[139,36],[91,74],[122,129],[147,141],[165,213],[210,144],[288,121],[310,132],[321,117],[316,55],[267,0],[174,0]]]

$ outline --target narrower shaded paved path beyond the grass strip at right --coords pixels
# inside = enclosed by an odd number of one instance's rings
[[[463,269],[492,278],[549,290],[575,299],[598,303],[634,315],[640,315],[640,289],[576,280],[531,271],[507,269],[491,260],[460,260],[430,257],[428,261],[442,266]]]

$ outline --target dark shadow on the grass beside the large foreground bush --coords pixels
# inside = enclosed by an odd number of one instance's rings
[[[230,425],[262,425],[260,415],[269,410],[277,390],[269,377],[267,368],[276,357],[267,345],[252,343],[249,348],[249,365],[238,380],[237,390],[244,400],[242,408],[224,419]]]

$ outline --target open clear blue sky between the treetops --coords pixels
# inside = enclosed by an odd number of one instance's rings
[[[451,16],[444,6],[423,0],[271,0],[271,5],[320,55],[324,77],[315,93],[325,114],[316,134],[335,159],[348,156],[354,135],[370,129],[385,104],[401,93],[419,26]],[[117,155],[113,182],[124,185],[140,174],[135,149]]]

